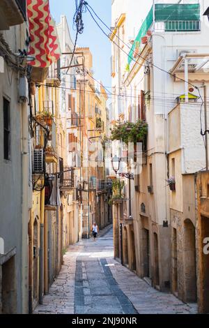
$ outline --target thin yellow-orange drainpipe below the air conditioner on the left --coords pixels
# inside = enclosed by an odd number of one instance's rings
[[[39,303],[42,304],[44,281],[44,222],[45,222],[45,188],[40,193],[40,258],[39,258]]]

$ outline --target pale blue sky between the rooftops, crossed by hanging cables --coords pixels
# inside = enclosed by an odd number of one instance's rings
[[[68,25],[72,40],[75,40],[75,31],[72,29],[72,18],[75,13],[75,0],[49,0],[52,16],[56,22],[60,21],[60,16],[65,15],[68,19]],[[111,26],[111,0],[88,0],[89,5],[102,18],[102,20]],[[105,5],[104,5],[105,3]],[[91,15],[84,13],[84,33],[79,34],[77,45],[79,47],[90,47],[93,54],[94,77],[101,80],[104,86],[111,86],[110,75],[110,57],[111,43],[104,36],[102,31],[93,22]],[[107,31],[107,29],[106,29]]]

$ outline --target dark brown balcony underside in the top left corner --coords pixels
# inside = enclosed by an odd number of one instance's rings
[[[2,0],[0,6],[0,30],[7,30],[26,20],[26,0]]]

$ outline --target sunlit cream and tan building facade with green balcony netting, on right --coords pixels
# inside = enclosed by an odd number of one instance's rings
[[[118,94],[112,111],[121,123],[146,121],[148,136],[140,174],[130,187],[125,179],[128,200],[114,210],[115,255],[153,287],[196,302],[195,173],[206,167],[208,2],[155,1],[134,38],[125,2],[112,5],[111,75]]]

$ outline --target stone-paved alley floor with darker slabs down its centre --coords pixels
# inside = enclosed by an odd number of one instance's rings
[[[61,272],[34,313],[196,313],[171,294],[150,287],[113,258],[112,230],[82,240],[64,255]]]

